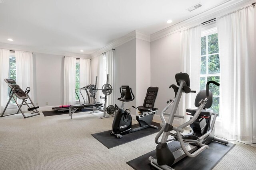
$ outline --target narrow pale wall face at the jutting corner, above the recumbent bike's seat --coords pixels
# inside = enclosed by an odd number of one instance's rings
[[[136,39],[136,106],[142,106],[150,87],[150,42]]]

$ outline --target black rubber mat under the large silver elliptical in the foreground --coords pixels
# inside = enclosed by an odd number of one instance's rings
[[[204,150],[198,156],[194,158],[185,157],[171,167],[175,170],[211,170],[234,146],[235,144],[233,143],[222,145],[217,142],[211,142],[209,149]],[[168,147],[174,152],[176,148],[180,148],[180,143],[173,141],[168,143]],[[126,163],[135,170],[157,170],[150,164],[149,156],[156,158],[156,150]]]

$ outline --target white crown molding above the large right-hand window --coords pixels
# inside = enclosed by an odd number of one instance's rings
[[[188,18],[187,20],[176,23],[170,27],[162,29],[156,33],[150,35],[150,42],[155,41],[157,39],[166,37],[173,33],[179,32],[180,30],[186,29],[193,25],[198,25],[204,21],[211,20],[213,18],[217,18],[222,16],[229,11],[235,10],[241,6],[247,5],[250,2],[254,2],[255,0],[228,0],[222,4],[215,6],[212,9],[206,10],[194,17]]]

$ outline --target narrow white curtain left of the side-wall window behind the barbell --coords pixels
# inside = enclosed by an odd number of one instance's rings
[[[100,55],[98,55],[98,82],[97,82],[97,86],[98,86],[98,88],[102,88],[102,86],[103,86],[103,82],[102,82],[102,79],[103,79],[103,55],[102,54],[100,54]],[[106,75],[105,75],[106,76]],[[94,84],[95,82],[93,82],[93,84]],[[105,83],[104,83],[105,84]],[[102,91],[101,90],[98,90],[97,91],[97,95],[96,95],[96,101],[97,102],[100,102],[100,103],[102,103],[103,102],[103,100],[102,99],[100,99],[100,96],[102,96]]]

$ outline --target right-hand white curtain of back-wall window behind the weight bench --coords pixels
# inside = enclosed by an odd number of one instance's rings
[[[79,70],[80,70],[80,88],[88,85],[91,83],[91,61],[90,59],[80,59],[79,60]],[[85,92],[85,90],[81,91],[83,96],[84,96],[84,100],[86,103],[88,103],[88,98],[87,98],[87,94]],[[90,94],[90,93],[89,93]],[[80,101],[81,104],[83,104],[83,98],[80,94]]]

